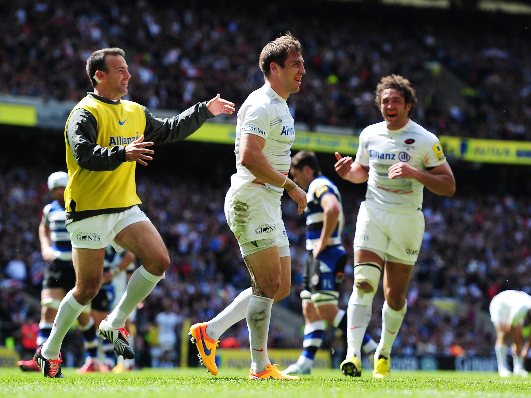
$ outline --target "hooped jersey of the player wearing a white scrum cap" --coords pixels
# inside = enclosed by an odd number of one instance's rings
[[[54,264],[72,267],[72,244],[70,233],[65,227],[65,208],[58,201],[47,204],[42,211],[42,222],[50,229],[50,240],[54,249]]]

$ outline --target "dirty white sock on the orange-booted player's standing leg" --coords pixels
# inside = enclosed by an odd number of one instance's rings
[[[247,306],[247,328],[251,345],[251,368],[256,373],[265,370],[269,364],[267,338],[271,321],[273,299],[251,295]]]

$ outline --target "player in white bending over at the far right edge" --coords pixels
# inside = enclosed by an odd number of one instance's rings
[[[511,371],[507,366],[507,342],[512,341],[512,371],[517,376],[527,377],[524,369],[524,358],[529,352],[528,338],[524,349],[522,343],[524,336],[522,328],[524,320],[531,322],[531,296],[519,290],[506,290],[492,298],[489,306],[491,321],[496,329],[496,359],[498,359],[498,373],[502,377],[509,377]]]

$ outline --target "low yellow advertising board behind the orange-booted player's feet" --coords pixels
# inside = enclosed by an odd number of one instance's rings
[[[268,349],[269,359],[278,364],[280,369],[297,362],[301,349]],[[249,348],[218,348],[216,350],[216,364],[218,368],[251,368],[251,352]],[[319,350],[315,354],[314,368],[330,369],[332,362],[330,353]]]

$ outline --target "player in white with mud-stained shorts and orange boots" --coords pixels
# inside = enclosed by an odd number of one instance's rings
[[[199,357],[217,375],[215,352],[219,336],[247,318],[251,347],[250,379],[298,379],[271,365],[267,342],[273,301],[289,295],[291,258],[281,219],[284,189],[306,207],[306,193],[288,178],[295,140],[294,120],[286,99],[299,91],[305,72],[303,49],[287,32],[270,41],[260,54],[265,84],[253,91],[238,111],[236,174],[230,178],[225,217],[251,274],[252,288],[244,290],[218,316],[192,325],[190,334]]]

